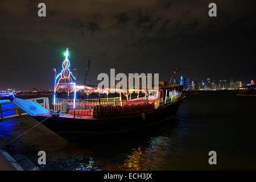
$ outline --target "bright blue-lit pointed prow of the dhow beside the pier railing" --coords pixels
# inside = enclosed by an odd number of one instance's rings
[[[13,103],[19,106],[29,115],[49,113],[49,111],[42,105],[40,105],[38,102],[24,100],[21,98],[13,98]]]

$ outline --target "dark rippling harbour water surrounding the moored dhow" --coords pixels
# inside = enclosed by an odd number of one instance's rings
[[[229,91],[200,92],[188,95],[180,105],[177,117],[147,133],[128,137],[68,142],[65,147],[49,152],[48,166],[41,169],[101,170],[244,170],[256,169],[256,97],[236,96]],[[14,123],[14,122],[12,122]],[[26,122],[24,122],[26,123]],[[32,125],[32,124],[31,124]],[[1,137],[11,138],[28,126],[0,125]],[[15,127],[15,129],[14,129]],[[45,130],[45,129],[42,129]],[[20,139],[20,146],[38,145],[49,140],[60,144],[50,134],[43,137],[31,131]],[[40,138],[40,145],[39,139]],[[44,139],[42,139],[44,138]],[[1,140],[0,140],[1,141]],[[13,147],[33,162],[35,148]],[[39,147],[40,148],[40,147]],[[208,152],[217,152],[217,165],[208,164]],[[54,164],[54,165],[53,165]]]

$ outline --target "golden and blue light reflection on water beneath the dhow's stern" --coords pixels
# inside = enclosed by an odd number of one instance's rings
[[[175,169],[187,145],[186,118],[187,108],[181,105],[179,117],[164,125],[158,136],[145,140],[146,146],[141,143],[141,146],[133,148],[119,168],[132,171]]]

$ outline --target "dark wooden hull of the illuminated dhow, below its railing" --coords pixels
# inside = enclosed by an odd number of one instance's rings
[[[127,133],[129,131],[143,129],[157,123],[162,123],[174,118],[182,99],[158,109],[136,115],[123,116],[119,118],[63,118],[49,117],[42,122],[43,125],[60,135],[85,134],[85,135],[109,135]],[[36,120],[43,121],[44,115],[33,116]]]

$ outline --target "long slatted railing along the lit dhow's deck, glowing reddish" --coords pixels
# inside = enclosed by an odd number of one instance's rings
[[[119,97],[118,97],[119,98]],[[164,102],[160,100],[76,100],[75,108],[73,100],[56,99],[55,110],[74,114],[77,116],[91,116],[95,118],[118,117],[118,115],[138,114],[153,111],[158,106],[170,105],[176,102],[179,97],[168,98]]]

